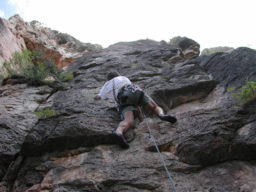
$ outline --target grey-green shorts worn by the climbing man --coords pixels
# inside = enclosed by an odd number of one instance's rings
[[[148,103],[150,101],[152,101],[152,99],[148,96],[148,94],[146,92],[144,92],[144,96],[140,102],[140,106],[141,107],[145,107],[148,105]],[[125,103],[121,103],[122,105],[127,105],[127,104],[133,104],[134,106],[127,106],[125,108],[122,109],[121,114],[124,117],[124,114],[127,111],[133,111],[133,116],[134,119],[138,116],[138,109],[136,108],[138,106],[138,101],[140,98],[140,91],[136,90],[135,92],[132,92],[132,89],[128,89],[124,91],[124,94],[128,96],[128,99],[126,100]]]

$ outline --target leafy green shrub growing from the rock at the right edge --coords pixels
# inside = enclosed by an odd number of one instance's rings
[[[228,92],[234,91],[236,87],[227,89]],[[248,81],[245,86],[242,87],[242,92],[232,93],[232,97],[235,97],[241,105],[254,100],[256,98],[256,82]]]

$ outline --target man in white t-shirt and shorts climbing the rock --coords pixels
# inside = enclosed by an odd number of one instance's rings
[[[112,135],[120,148],[129,148],[123,133],[133,126],[134,119],[139,115],[140,121],[144,120],[139,106],[154,112],[162,121],[170,123],[177,121],[174,116],[164,115],[164,110],[146,92],[132,84],[128,78],[120,76],[117,71],[110,71],[107,79],[108,82],[101,88],[100,93],[94,96],[94,99],[116,100],[116,108],[122,121]]]

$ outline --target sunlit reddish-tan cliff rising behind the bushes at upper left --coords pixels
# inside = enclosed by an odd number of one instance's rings
[[[1,19],[0,25],[4,29],[0,38],[8,42],[2,44],[1,40],[1,64],[10,58],[12,52],[28,48],[30,51],[44,50],[43,56],[48,59],[53,56],[53,63],[62,68],[85,52],[102,49],[101,45],[82,43],[66,33],[42,27],[38,21],[24,22],[19,15],[9,20]]]

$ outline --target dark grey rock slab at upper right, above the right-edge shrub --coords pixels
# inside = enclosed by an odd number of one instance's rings
[[[207,73],[221,86],[225,89],[236,87],[237,91],[246,81],[256,81],[255,60],[255,50],[246,47],[239,47],[230,54],[218,52],[197,59],[199,65],[207,68]]]

